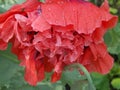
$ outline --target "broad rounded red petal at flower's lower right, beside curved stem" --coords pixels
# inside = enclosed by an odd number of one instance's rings
[[[84,52],[82,63],[90,72],[99,72],[106,74],[113,66],[113,58],[107,53],[106,46],[101,44],[92,44]]]

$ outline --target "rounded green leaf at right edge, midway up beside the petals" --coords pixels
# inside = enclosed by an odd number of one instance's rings
[[[109,30],[105,37],[105,42],[108,46],[108,51],[112,54],[120,53],[120,23],[115,28]]]

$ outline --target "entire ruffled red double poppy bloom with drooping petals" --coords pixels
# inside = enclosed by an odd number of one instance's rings
[[[12,43],[31,85],[42,81],[45,72],[53,72],[52,82],[59,80],[73,63],[106,74],[113,58],[103,35],[116,22],[107,0],[101,7],[84,0],[27,0],[0,15],[0,50]]]

